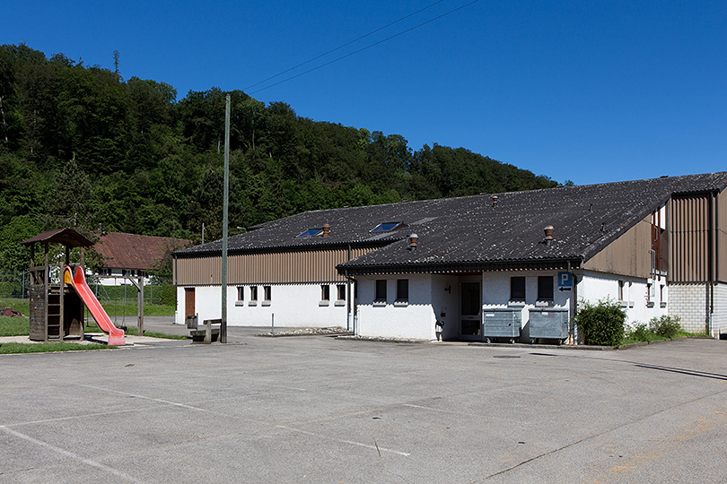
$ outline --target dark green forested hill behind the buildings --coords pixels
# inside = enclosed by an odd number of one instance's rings
[[[46,229],[102,223],[198,240],[205,223],[206,239],[219,238],[225,94],[178,100],[165,82],[0,47],[0,271],[22,269],[17,243]],[[232,228],[314,209],[556,186],[464,148],[413,150],[399,134],[230,94]]]

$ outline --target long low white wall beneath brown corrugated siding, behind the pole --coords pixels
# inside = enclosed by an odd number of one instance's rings
[[[266,284],[268,285],[268,284]],[[269,284],[271,298],[265,301],[263,285],[258,285],[258,300],[250,300],[250,285],[227,287],[227,324],[231,326],[269,327],[275,315],[276,327],[346,328],[346,301],[337,300],[337,284],[329,283],[330,298],[321,300],[322,284]],[[244,288],[244,299],[238,300],[238,287]],[[195,312],[202,324],[205,319],[222,315],[220,286],[195,288]],[[184,288],[177,288],[176,323],[186,324]]]

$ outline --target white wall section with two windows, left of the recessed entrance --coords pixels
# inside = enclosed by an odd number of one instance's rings
[[[376,280],[387,281],[386,302],[375,302]],[[409,300],[397,302],[397,280],[408,279]],[[437,297],[433,307],[433,281],[430,274],[404,276],[359,276],[358,328],[361,336],[433,340],[435,307],[444,306],[446,298]],[[441,281],[440,281],[441,282]],[[444,290],[442,288],[442,293]],[[440,310],[441,309],[437,309]]]

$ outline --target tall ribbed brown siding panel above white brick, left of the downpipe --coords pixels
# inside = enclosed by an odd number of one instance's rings
[[[671,199],[670,281],[708,280],[710,203],[708,194]]]

